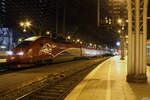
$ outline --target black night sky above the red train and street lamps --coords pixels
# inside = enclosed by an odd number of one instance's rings
[[[58,5],[59,33],[63,32],[63,12],[66,5],[66,35],[81,38],[87,42],[115,44],[116,33],[97,28],[97,0],[7,0],[5,21],[7,26],[21,31],[20,21],[29,19],[35,32],[56,31],[56,4]],[[150,12],[150,6],[149,12]],[[150,13],[149,13],[150,16]],[[150,21],[148,21],[150,22]],[[41,30],[40,30],[41,29]],[[148,33],[150,25],[148,23]],[[72,32],[72,33],[71,33]],[[68,34],[69,33],[69,34]],[[148,34],[150,37],[150,34]]]

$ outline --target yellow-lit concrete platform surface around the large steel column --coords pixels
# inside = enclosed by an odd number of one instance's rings
[[[127,60],[112,57],[80,82],[65,100],[150,100],[150,67],[147,83],[126,82]]]

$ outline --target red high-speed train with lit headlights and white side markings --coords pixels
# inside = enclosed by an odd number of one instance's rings
[[[11,68],[22,68],[33,64],[66,61],[81,57],[101,56],[105,52],[86,46],[66,42],[63,39],[33,36],[25,39],[9,52],[7,62]]]

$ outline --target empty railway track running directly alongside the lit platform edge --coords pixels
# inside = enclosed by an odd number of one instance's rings
[[[16,100],[63,100],[67,94],[98,64],[94,64],[87,69],[82,69],[63,79],[57,81],[53,85],[47,85],[39,88]]]

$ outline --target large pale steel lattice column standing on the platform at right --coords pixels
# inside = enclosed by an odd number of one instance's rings
[[[148,0],[128,2],[128,82],[146,82]]]

